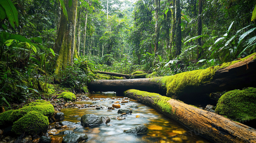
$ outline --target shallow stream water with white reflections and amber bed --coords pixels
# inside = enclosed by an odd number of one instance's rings
[[[99,100],[78,101],[75,104],[92,104],[98,106],[112,107],[113,101],[122,101],[124,97],[116,97],[113,93],[89,94],[89,98],[99,98]],[[119,100],[112,99],[121,98]],[[100,99],[101,98],[101,99]],[[104,98],[104,99],[103,99]],[[102,101],[101,101],[102,100]],[[61,112],[64,113],[64,121],[79,122],[78,117],[85,114],[96,114],[98,116],[108,116],[111,121],[96,127],[82,127],[75,133],[85,133],[88,136],[88,143],[209,143],[194,131],[188,130],[180,123],[163,115],[158,110],[139,103],[136,100],[129,99],[130,102],[121,105],[120,109],[127,109],[129,105],[137,105],[138,109],[132,109],[132,115],[125,116],[124,120],[117,120],[114,117],[118,109],[108,111],[107,109],[96,110],[96,107],[89,108],[65,108]],[[143,116],[145,118],[136,118]],[[144,124],[149,128],[149,132],[145,134],[124,134],[125,130],[129,130],[138,125]],[[73,130],[73,129],[70,129]]]

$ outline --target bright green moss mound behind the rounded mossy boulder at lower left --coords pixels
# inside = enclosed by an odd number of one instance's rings
[[[14,110],[8,120],[12,122],[17,121],[31,111],[37,111],[44,116],[51,116],[54,113],[54,108],[50,101],[36,100],[36,102],[31,102],[21,109]]]

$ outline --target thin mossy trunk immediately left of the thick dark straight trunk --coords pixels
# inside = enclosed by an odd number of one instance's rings
[[[175,6],[175,1],[174,4]],[[176,26],[175,26],[175,7],[172,7],[172,27],[171,27],[171,46],[170,46],[170,57],[169,59],[171,60],[175,55],[172,55],[172,48],[175,47],[175,31],[176,31]]]

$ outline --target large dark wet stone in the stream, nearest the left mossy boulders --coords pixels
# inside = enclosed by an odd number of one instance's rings
[[[81,117],[81,125],[84,127],[98,126],[102,123],[100,117],[95,114],[85,114]]]

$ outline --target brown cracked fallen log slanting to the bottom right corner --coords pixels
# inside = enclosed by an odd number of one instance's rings
[[[191,132],[218,143],[256,143],[256,130],[221,115],[182,103],[181,101],[130,89],[125,96],[156,108],[186,126]],[[191,134],[191,133],[190,133]]]

